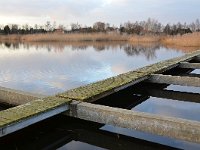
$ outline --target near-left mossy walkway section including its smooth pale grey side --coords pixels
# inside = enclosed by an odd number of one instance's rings
[[[0,137],[69,109],[70,99],[47,97],[0,111]]]

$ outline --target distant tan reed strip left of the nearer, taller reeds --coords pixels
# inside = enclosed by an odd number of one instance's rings
[[[72,33],[72,34],[29,34],[29,35],[2,35],[0,41],[20,42],[157,42],[159,36],[151,35],[121,35],[119,33]]]

